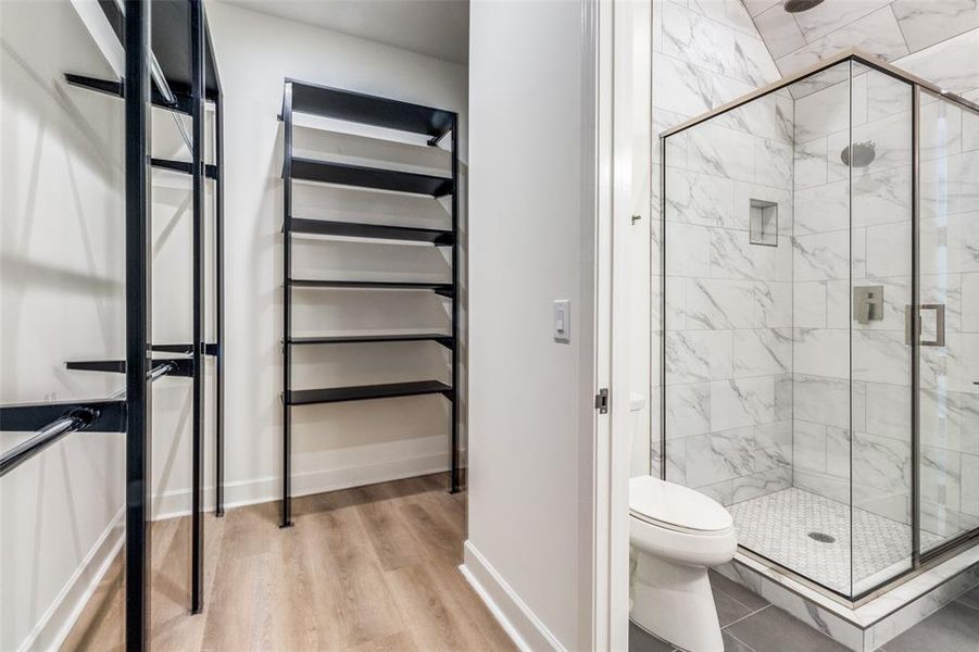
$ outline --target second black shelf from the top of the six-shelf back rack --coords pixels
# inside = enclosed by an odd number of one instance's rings
[[[452,193],[453,183],[451,178],[447,177],[297,156],[292,158],[291,163],[292,178],[303,181],[411,192],[413,195],[429,195],[431,197],[444,197]]]

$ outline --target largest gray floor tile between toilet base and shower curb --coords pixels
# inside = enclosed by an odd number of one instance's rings
[[[756,652],[846,651],[831,638],[775,606],[735,623],[727,631]]]

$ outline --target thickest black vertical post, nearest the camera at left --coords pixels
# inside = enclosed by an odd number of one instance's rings
[[[126,650],[149,648],[150,356],[150,3],[126,0]]]

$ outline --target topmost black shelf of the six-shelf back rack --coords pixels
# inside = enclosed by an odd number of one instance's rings
[[[368,96],[351,90],[287,79],[292,84],[292,111],[422,134],[441,139],[452,129],[455,114],[422,104]]]

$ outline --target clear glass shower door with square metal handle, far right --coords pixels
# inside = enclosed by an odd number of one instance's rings
[[[919,100],[921,553],[979,527],[979,113]]]

